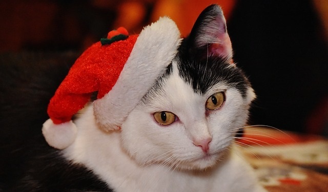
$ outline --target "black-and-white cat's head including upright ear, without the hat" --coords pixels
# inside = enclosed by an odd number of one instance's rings
[[[226,20],[212,5],[122,124],[122,146],[132,158],[182,169],[204,169],[223,158],[255,98],[232,55]]]

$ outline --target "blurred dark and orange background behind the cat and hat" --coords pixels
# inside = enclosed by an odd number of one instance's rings
[[[187,36],[213,3],[226,15],[234,60],[258,96],[251,124],[328,135],[327,0],[0,1],[0,54],[77,57],[112,29],[139,33],[164,15]]]

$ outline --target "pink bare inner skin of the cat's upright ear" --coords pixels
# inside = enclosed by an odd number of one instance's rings
[[[218,42],[213,43],[209,47],[209,55],[227,57],[232,61],[232,45],[228,33],[220,34]]]

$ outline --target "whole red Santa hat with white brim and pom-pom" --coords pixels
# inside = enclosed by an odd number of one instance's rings
[[[119,28],[88,48],[50,100],[50,119],[42,129],[48,144],[64,149],[74,142],[78,127],[71,118],[95,92],[93,109],[98,126],[105,131],[118,130],[171,63],[180,40],[175,23],[163,17],[139,35],[129,36]]]

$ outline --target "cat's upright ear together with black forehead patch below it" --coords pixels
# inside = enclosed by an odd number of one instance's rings
[[[232,47],[226,19],[218,5],[201,12],[177,56],[179,76],[190,84],[195,93],[206,94],[223,83],[236,88],[245,97],[249,82],[243,72],[232,66]]]

